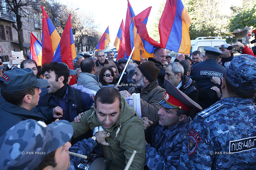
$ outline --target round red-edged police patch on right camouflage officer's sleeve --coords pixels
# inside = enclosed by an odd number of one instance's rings
[[[200,141],[201,141],[201,138],[198,135],[198,133],[194,130],[190,130],[189,137],[188,137],[188,146],[187,146],[188,155],[191,155],[195,152],[198,142]]]

